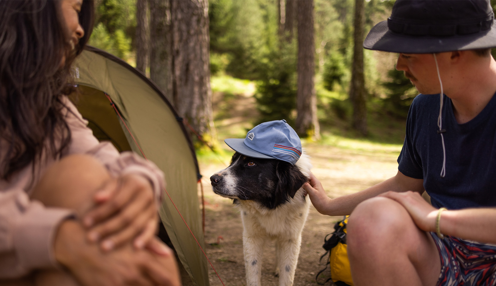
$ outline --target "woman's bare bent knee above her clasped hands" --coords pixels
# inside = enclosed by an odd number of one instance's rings
[[[74,154],[47,169],[36,184],[31,199],[79,213],[91,207],[93,194],[110,180],[107,169],[96,158]]]

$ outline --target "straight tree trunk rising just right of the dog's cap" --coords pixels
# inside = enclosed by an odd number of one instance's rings
[[[320,138],[317,101],[313,85],[315,44],[313,43],[313,0],[298,1],[298,93],[296,130],[300,136]]]

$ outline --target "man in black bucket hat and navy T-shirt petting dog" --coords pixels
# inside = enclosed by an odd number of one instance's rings
[[[320,213],[351,213],[355,285],[496,285],[495,25],[489,0],[397,0],[365,39],[421,94],[394,177],[332,200],[304,186]]]

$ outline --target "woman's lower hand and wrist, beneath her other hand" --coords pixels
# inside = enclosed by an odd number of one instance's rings
[[[63,221],[57,231],[55,258],[81,286],[180,286],[174,252],[156,238],[149,248],[125,245],[103,253],[84,239],[85,230],[75,220]]]

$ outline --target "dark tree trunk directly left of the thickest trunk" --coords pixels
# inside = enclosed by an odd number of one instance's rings
[[[138,2],[140,2],[138,0]],[[172,97],[172,37],[169,0],[151,0],[150,78],[174,104]]]

